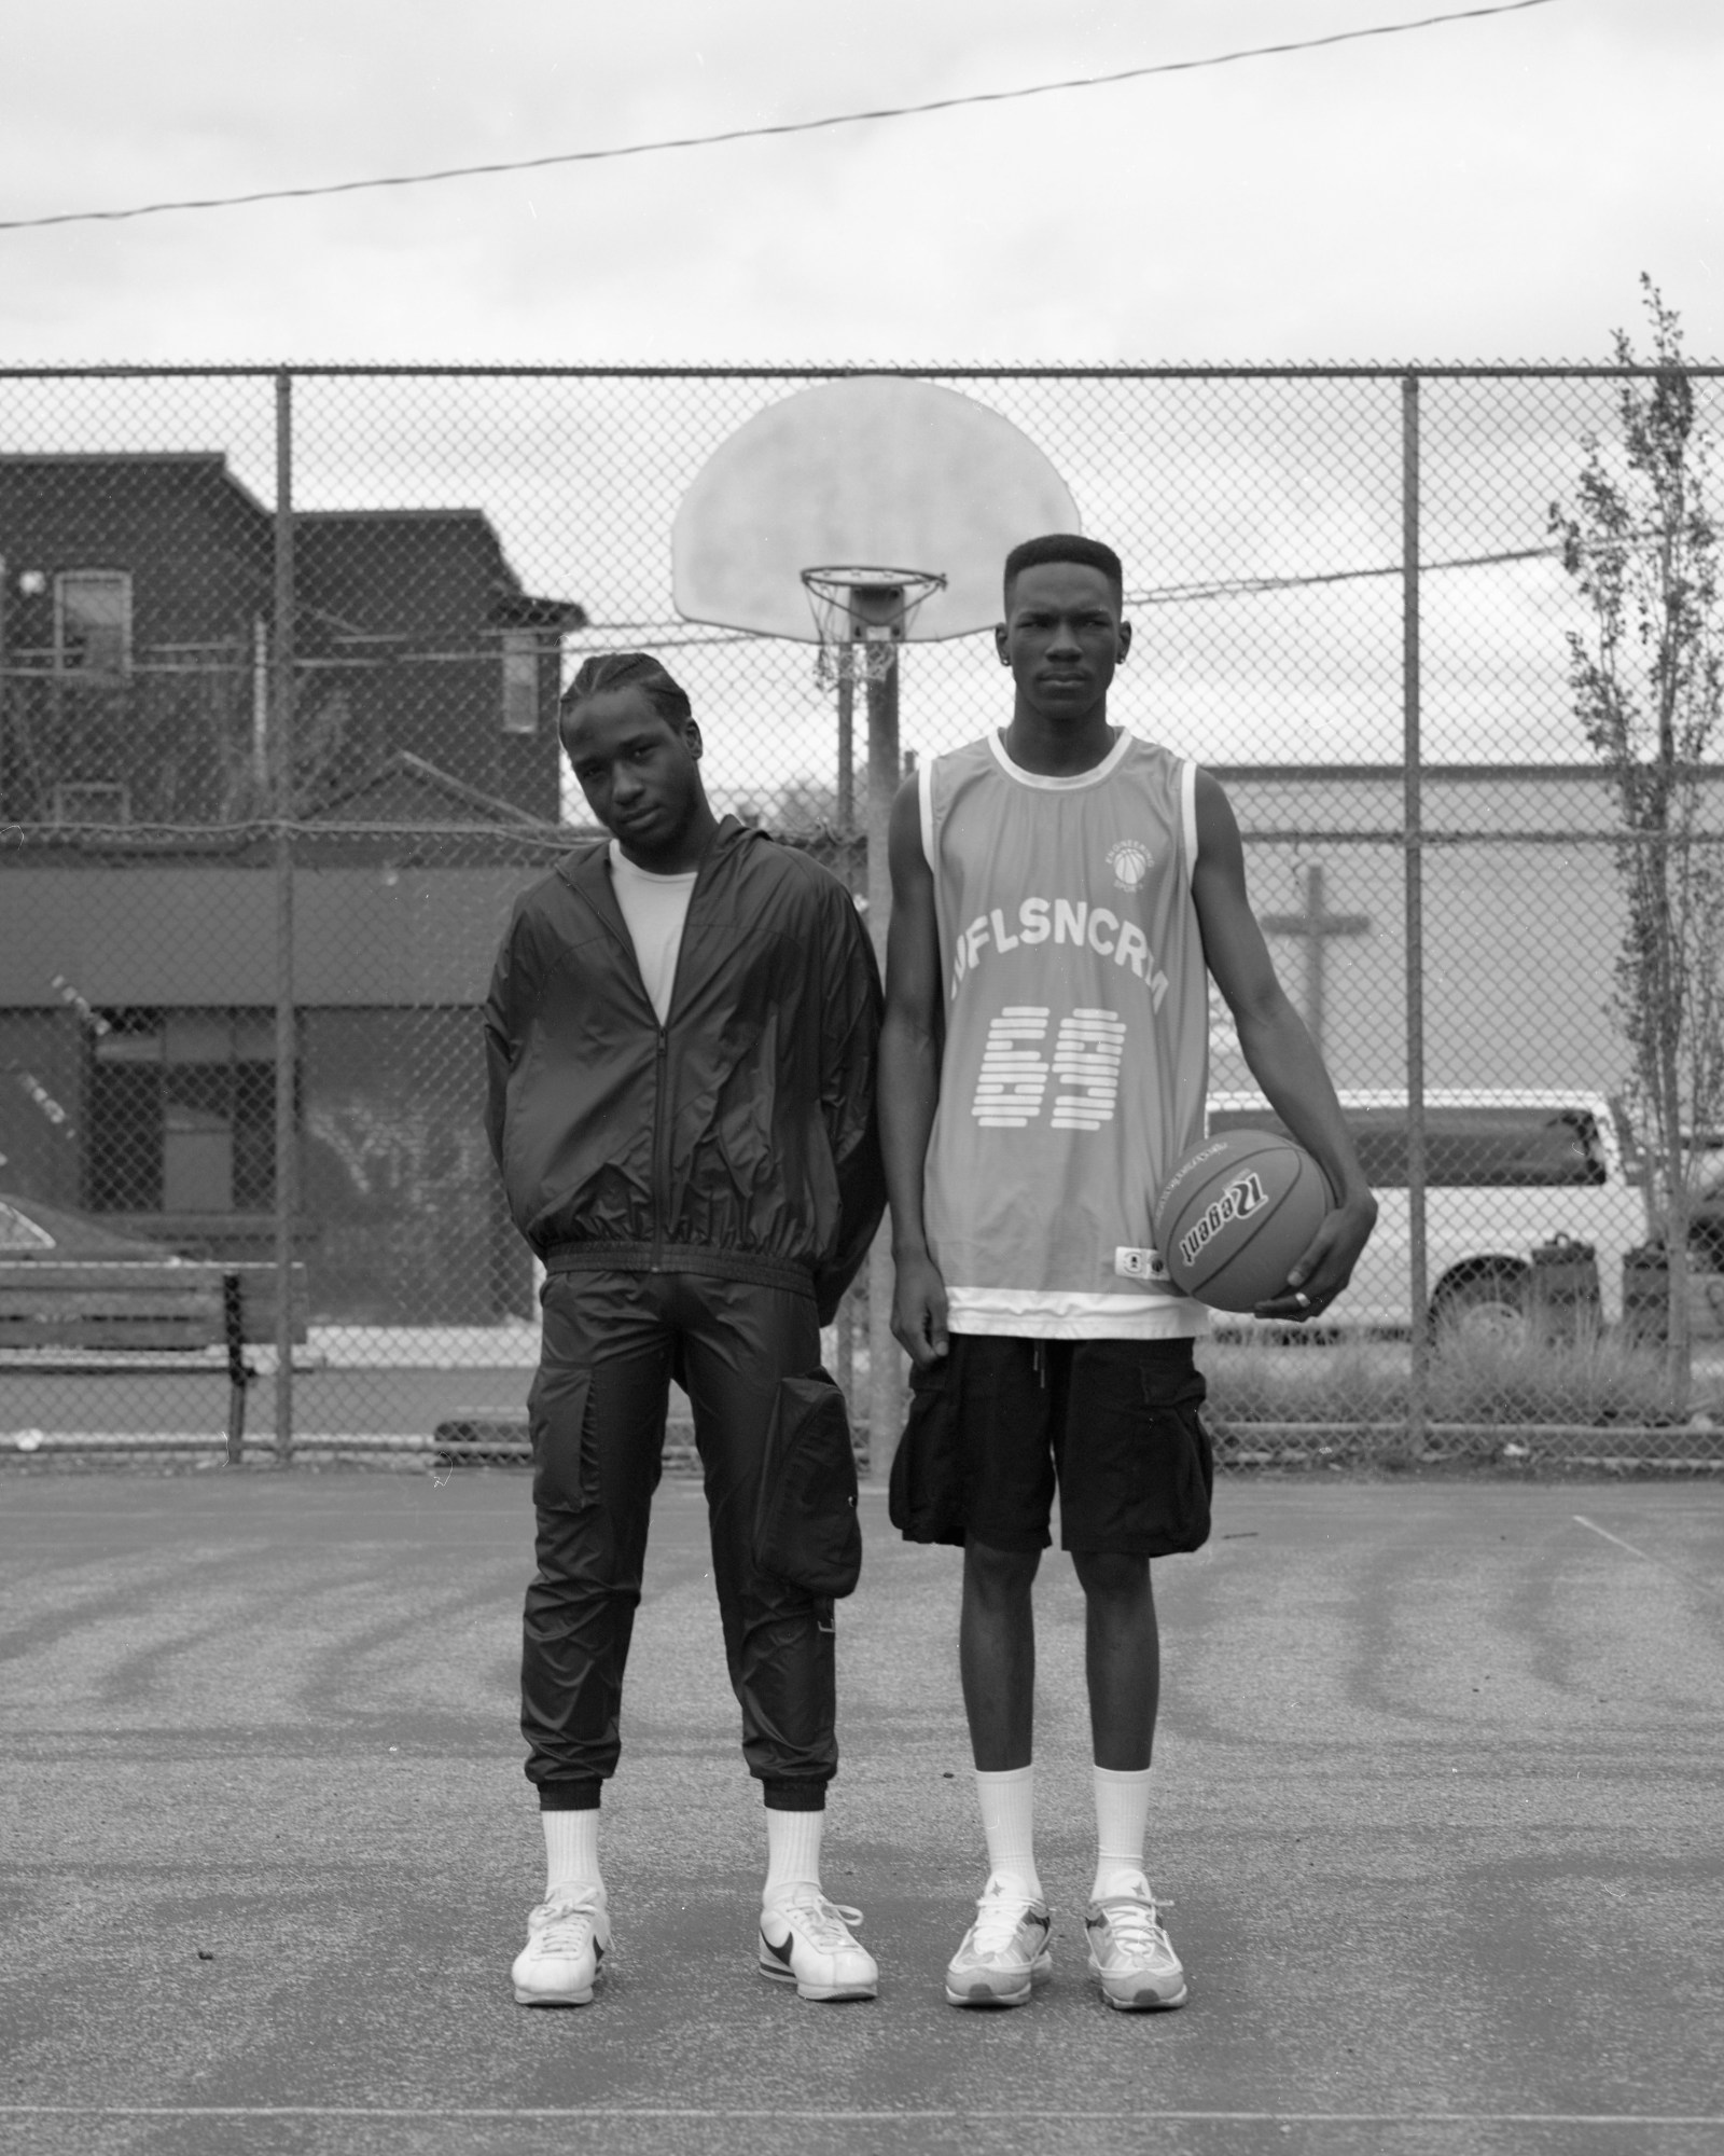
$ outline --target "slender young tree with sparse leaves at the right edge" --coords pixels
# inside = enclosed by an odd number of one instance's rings
[[[1616,440],[1582,438],[1577,502],[1552,509],[1552,530],[1593,617],[1584,634],[1569,632],[1569,688],[1621,819],[1616,1018],[1670,1261],[1670,1404],[1685,1412],[1690,1147],[1724,1106],[1724,858],[1705,800],[1724,621],[1707,507],[1711,440],[1681,321],[1651,278],[1640,285],[1651,371],[1623,377]],[[1638,364],[1627,332],[1614,347],[1618,367]]]

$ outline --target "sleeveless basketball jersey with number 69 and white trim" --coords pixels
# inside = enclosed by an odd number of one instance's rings
[[[1121,733],[1078,778],[998,735],[920,772],[946,1046],[924,1220],[955,1332],[1202,1332],[1151,1248],[1202,1136],[1196,768]]]

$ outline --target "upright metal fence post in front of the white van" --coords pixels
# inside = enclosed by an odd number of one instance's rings
[[[1424,1449],[1431,1408],[1431,1283],[1424,1248],[1424,798],[1418,653],[1418,375],[1401,377],[1401,787],[1407,912],[1407,1445]]]

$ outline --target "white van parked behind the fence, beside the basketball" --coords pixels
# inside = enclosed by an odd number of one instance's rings
[[[1343,1091],[1377,1192],[1377,1233],[1325,1322],[1405,1332],[1412,1322],[1407,1095]],[[1211,1093],[1209,1130],[1282,1130],[1256,1093]],[[1519,1332],[1530,1253],[1569,1235],[1597,1250],[1608,1324],[1623,1315],[1623,1253],[1646,1242],[1646,1194],[1605,1093],[1433,1089],[1424,1095],[1424,1263],[1437,1326]]]

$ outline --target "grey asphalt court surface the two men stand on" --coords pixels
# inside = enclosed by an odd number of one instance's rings
[[[696,1488],[666,1483],[593,2007],[513,2005],[541,1882],[524,1475],[0,1477],[0,2150],[1724,2150],[1724,1492],[1226,1481],[1157,1563],[1151,1876],[1192,2003],[1110,2014],[1082,1600],[1039,1585],[1056,1975],[940,1977],[983,1850],[957,1554],[840,1608],[828,1891],[881,1996],[754,1975],[763,1830]]]

